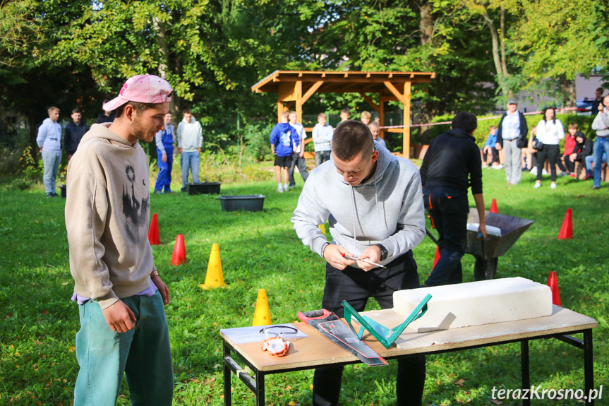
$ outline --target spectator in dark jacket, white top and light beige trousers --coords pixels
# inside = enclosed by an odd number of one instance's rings
[[[529,133],[526,126],[524,114],[518,111],[518,100],[510,97],[507,100],[507,112],[501,117],[497,127],[497,143],[495,148],[503,150],[503,167],[505,168],[505,179],[508,185],[517,185],[522,177],[521,148],[526,142],[518,145],[518,139],[524,138]]]

